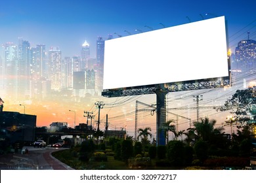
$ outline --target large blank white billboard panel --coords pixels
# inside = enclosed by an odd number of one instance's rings
[[[223,76],[224,16],[105,41],[103,90]]]

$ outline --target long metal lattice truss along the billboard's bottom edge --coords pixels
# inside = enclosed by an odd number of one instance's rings
[[[157,90],[162,90],[156,85],[137,86],[130,88],[117,88],[110,90],[103,90],[102,96],[104,97],[125,97],[131,95],[145,95],[156,93]],[[212,78],[207,80],[192,80],[184,82],[172,82],[163,84],[166,92],[181,92],[188,90],[202,90],[212,88],[223,88],[224,86],[231,86],[229,77]]]

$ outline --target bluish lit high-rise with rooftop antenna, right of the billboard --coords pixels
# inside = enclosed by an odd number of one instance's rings
[[[249,39],[249,33],[247,40],[238,42],[234,65],[238,65],[243,72],[256,71],[256,41]]]

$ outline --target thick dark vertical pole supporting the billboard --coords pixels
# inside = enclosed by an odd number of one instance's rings
[[[156,146],[165,145],[166,103],[165,97],[168,93],[164,84],[156,86]]]

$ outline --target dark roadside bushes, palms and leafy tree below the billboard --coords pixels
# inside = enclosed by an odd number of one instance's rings
[[[193,127],[176,131],[175,121],[168,121],[163,129],[166,145],[156,146],[150,127],[140,128],[138,138],[86,139],[68,150],[53,156],[74,169],[244,169],[250,165],[251,136],[255,135],[255,88],[238,90],[225,103],[234,118],[224,124],[236,125],[237,130],[226,134],[223,127],[215,127],[216,120],[201,118]],[[246,108],[245,108],[246,107]],[[174,139],[169,141],[169,133]],[[96,138],[95,138],[96,139]]]

